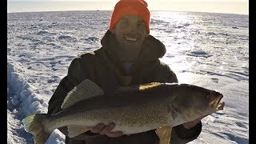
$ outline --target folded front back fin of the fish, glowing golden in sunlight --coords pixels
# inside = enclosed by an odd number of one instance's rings
[[[118,92],[126,92],[126,91],[134,91],[134,90],[148,90],[157,86],[161,86],[163,83],[160,82],[151,82],[151,83],[146,83],[142,85],[134,85],[134,86],[120,86],[118,88]]]

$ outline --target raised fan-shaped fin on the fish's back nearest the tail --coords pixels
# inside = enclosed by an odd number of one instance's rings
[[[68,94],[66,94],[66,98],[62,102],[61,107],[64,110],[77,102],[102,94],[104,94],[103,90],[98,87],[96,83],[86,79],[79,83],[78,86],[75,86],[73,90],[70,90]]]

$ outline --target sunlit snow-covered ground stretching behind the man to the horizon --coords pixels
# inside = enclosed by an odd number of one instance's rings
[[[7,14],[7,143],[33,143],[22,119],[46,113],[50,97],[78,54],[96,50],[110,11]],[[154,11],[150,34],[180,83],[218,90],[224,110],[202,119],[195,143],[249,143],[249,17]],[[65,143],[58,130],[46,143]]]

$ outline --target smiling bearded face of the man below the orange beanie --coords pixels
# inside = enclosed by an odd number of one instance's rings
[[[146,38],[146,25],[137,15],[126,15],[120,18],[112,30],[119,46],[131,52],[140,50],[143,40]]]

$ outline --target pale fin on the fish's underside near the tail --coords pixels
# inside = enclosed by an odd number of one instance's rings
[[[69,131],[69,137],[73,138],[75,136],[78,136],[79,134],[82,134],[88,130],[90,130],[90,126],[80,126],[80,125],[70,125],[67,126],[67,130]]]

